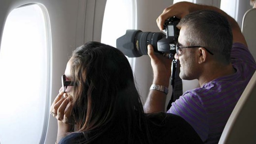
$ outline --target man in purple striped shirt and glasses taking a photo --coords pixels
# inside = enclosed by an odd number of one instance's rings
[[[175,58],[180,61],[180,77],[198,79],[200,88],[185,92],[167,113],[187,120],[206,144],[219,142],[239,97],[256,70],[239,25],[219,8],[178,2],[164,9],[157,19],[160,30],[172,16],[182,18]],[[164,111],[169,86],[171,60],[148,54],[154,72],[153,86],[144,105],[146,113]],[[159,89],[161,87],[161,89]],[[165,90],[164,90],[165,88]]]

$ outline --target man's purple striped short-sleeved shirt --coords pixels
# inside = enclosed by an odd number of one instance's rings
[[[185,92],[167,113],[187,120],[206,144],[217,144],[225,124],[256,71],[255,60],[244,45],[234,43],[231,62],[236,72]]]

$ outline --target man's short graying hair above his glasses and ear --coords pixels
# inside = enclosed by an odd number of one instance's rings
[[[233,35],[226,17],[216,11],[200,10],[181,19],[177,27],[182,26],[187,28],[187,45],[205,47],[218,61],[230,63]]]

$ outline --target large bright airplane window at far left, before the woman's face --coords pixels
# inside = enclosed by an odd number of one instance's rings
[[[6,19],[0,45],[2,144],[43,144],[51,48],[47,18],[42,5],[32,4],[12,10]]]

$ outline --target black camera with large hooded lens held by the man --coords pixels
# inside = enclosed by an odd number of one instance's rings
[[[128,29],[126,34],[117,39],[117,48],[128,57],[147,55],[147,46],[152,45],[154,52],[173,59],[176,53],[176,44],[180,30],[176,25],[180,19],[168,18],[164,22],[163,32],[142,32],[141,30]]]

